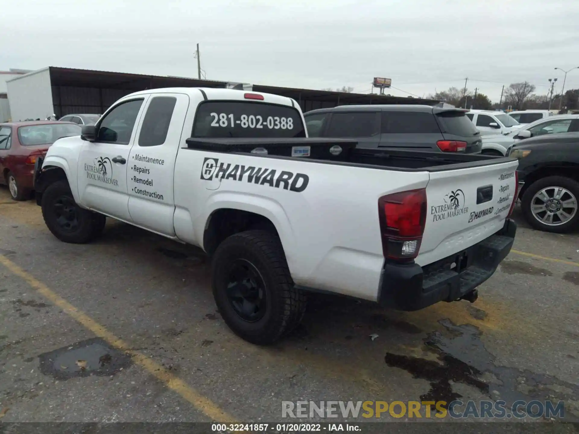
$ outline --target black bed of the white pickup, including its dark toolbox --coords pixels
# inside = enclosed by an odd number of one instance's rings
[[[188,138],[187,148],[219,153],[247,154],[256,148],[267,150],[267,157],[278,159],[302,159],[316,163],[351,165],[355,167],[382,168],[395,171],[455,170],[480,167],[512,161],[508,157],[481,154],[418,152],[415,150],[357,149],[357,141],[328,138]],[[309,156],[292,157],[294,146],[310,146]],[[342,152],[335,156],[329,152],[332,146],[340,146]],[[263,156],[263,155],[262,155]]]

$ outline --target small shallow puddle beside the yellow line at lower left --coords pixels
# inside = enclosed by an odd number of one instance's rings
[[[61,380],[111,376],[132,364],[130,356],[111,348],[100,337],[67,345],[38,356],[40,371]]]

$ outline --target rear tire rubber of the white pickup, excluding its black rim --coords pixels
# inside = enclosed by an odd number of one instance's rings
[[[267,307],[263,318],[247,322],[232,307],[226,289],[228,270],[236,259],[247,260],[265,283]],[[213,296],[225,323],[237,336],[258,345],[272,344],[301,322],[307,297],[294,286],[280,239],[265,230],[248,230],[226,238],[211,264]]]

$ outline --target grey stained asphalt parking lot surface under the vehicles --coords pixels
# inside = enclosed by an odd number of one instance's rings
[[[282,402],[330,400],[562,400],[565,420],[577,421],[579,234],[532,230],[519,210],[515,219],[514,251],[474,304],[397,312],[312,295],[295,333],[257,347],[219,316],[199,249],[112,219],[98,241],[64,244],[34,201],[0,187],[0,431],[10,422],[304,422],[283,419]],[[384,423],[393,431],[425,420],[361,419],[336,421],[380,421],[361,432],[385,432]],[[501,429],[579,431],[514,420]]]

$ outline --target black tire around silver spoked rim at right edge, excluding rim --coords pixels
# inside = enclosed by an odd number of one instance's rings
[[[538,179],[526,188],[525,193],[521,198],[521,208],[525,219],[529,225],[534,227],[534,229],[546,232],[560,234],[576,229],[579,226],[579,211],[576,212],[573,218],[568,222],[557,226],[545,225],[545,223],[541,223],[533,215],[533,212],[531,211],[531,201],[533,200],[533,196],[545,187],[551,186],[563,187],[564,189],[569,190],[569,192],[579,200],[579,182],[574,179],[567,178],[566,176],[547,176],[547,178]]]

